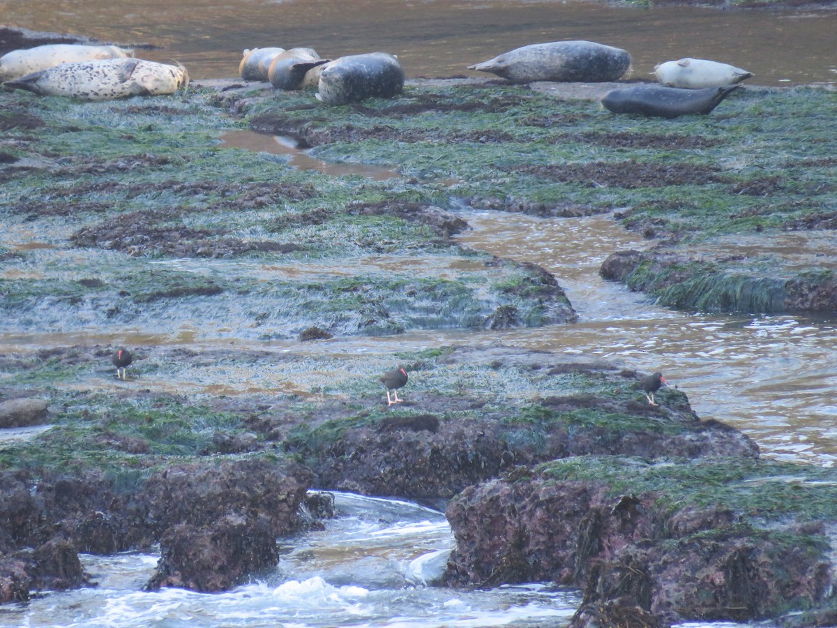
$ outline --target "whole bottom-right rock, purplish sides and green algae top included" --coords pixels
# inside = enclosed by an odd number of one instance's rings
[[[516,471],[449,502],[456,548],[445,579],[583,586],[578,626],[634,607],[661,625],[807,609],[833,585],[827,528],[837,514],[834,485],[818,485],[834,472],[814,475],[752,459],[619,457]]]

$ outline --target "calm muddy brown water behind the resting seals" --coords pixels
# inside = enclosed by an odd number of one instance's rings
[[[130,6],[130,10],[126,10]],[[0,0],[9,26],[152,44],[193,79],[238,75],[243,49],[311,46],[322,57],[383,50],[408,77],[480,75],[468,65],[526,44],[588,39],[624,48],[632,77],[682,57],[716,59],[759,85],[837,82],[837,11],[616,8],[556,0]]]

